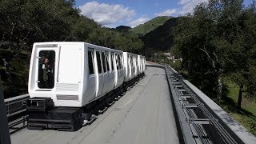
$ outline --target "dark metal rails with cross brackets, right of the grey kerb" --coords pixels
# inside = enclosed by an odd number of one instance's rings
[[[218,122],[218,118],[215,118],[214,115],[210,113],[210,110],[206,108],[205,104],[198,99],[197,94],[194,94],[194,91],[182,81],[181,75],[171,71],[170,67],[169,70],[170,75],[172,75],[171,82],[179,82],[179,84],[176,85],[172,84],[173,90],[176,93],[176,97],[179,98],[179,101],[182,104],[186,104],[186,106],[182,106],[182,109],[184,113],[186,113],[186,120],[187,123],[190,124],[191,130],[194,130],[194,135],[197,135],[197,137],[194,137],[196,142],[243,143],[238,137],[233,138],[229,134],[230,132]],[[190,98],[181,98],[184,95],[190,96]],[[200,121],[199,118],[205,118],[205,122],[202,122],[202,124],[195,124],[195,122]],[[211,127],[211,129],[207,130],[209,127]]]

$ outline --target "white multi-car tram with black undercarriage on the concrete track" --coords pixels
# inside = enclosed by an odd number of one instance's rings
[[[28,128],[78,130],[84,115],[142,77],[145,57],[86,42],[34,43]]]

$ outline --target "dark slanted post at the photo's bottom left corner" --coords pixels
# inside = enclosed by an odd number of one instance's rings
[[[8,128],[6,106],[4,102],[4,96],[2,92],[2,81],[0,75],[0,143],[10,144],[10,132]]]

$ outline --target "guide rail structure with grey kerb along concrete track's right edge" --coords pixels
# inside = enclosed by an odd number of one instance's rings
[[[170,66],[146,65],[161,67],[166,70],[166,78],[172,94],[171,100],[181,143],[244,143],[232,130],[218,121],[217,115],[198,98],[198,95],[183,82],[183,78]],[[178,120],[177,120],[178,119]],[[179,130],[180,129],[180,130]]]

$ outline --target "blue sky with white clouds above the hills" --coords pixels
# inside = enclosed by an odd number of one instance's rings
[[[76,0],[82,14],[106,27],[138,26],[156,16],[174,16],[193,11],[207,0]],[[252,0],[244,0],[247,6]]]

